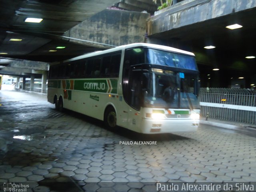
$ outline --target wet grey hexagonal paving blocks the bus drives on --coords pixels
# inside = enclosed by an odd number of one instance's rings
[[[45,95],[2,90],[0,104],[0,182],[30,182],[27,191],[65,191],[66,182],[133,192],[156,191],[156,182],[256,181],[255,133],[207,125],[177,135],[111,132],[82,114],[57,112]],[[63,183],[50,185],[56,181]]]

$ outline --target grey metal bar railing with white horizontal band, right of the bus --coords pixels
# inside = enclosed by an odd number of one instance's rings
[[[256,124],[256,91],[248,89],[201,88],[201,116]]]

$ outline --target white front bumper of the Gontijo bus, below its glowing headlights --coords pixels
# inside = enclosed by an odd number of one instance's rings
[[[145,134],[194,132],[199,125],[199,119],[146,119],[142,120],[140,132]]]

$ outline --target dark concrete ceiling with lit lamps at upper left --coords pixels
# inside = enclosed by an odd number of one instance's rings
[[[116,2],[118,0],[0,0],[0,65],[8,63],[6,58],[54,62],[104,49],[97,43],[72,43],[62,35]],[[28,23],[24,22],[26,18],[43,20]],[[10,41],[11,38],[22,41]],[[49,52],[57,46],[66,48]]]

